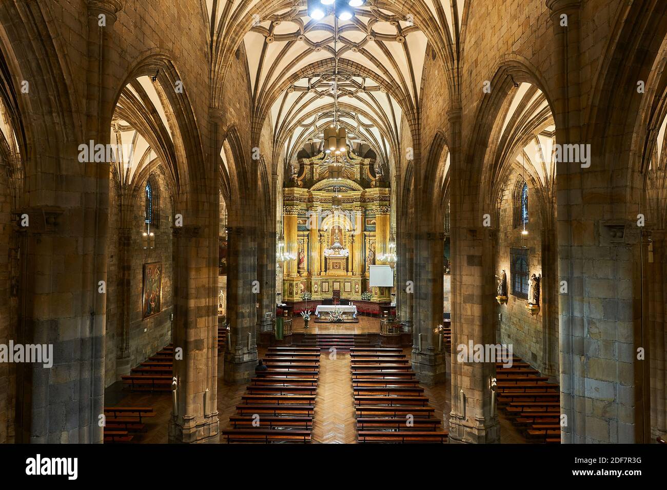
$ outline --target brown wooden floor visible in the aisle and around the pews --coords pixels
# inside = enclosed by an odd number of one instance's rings
[[[372,327],[371,323],[374,322],[379,324],[377,318],[369,318],[368,321],[363,323],[348,324],[346,327],[370,328]],[[326,327],[327,325],[319,324],[319,326]],[[303,325],[301,325],[301,329],[303,329]],[[308,332],[317,333],[315,329],[311,330],[311,328],[308,329]],[[323,332],[320,331],[319,333]],[[329,330],[325,333],[333,333],[333,331]],[[406,355],[410,356],[412,349],[408,347],[404,351]],[[265,353],[266,350],[260,348],[259,358],[261,359]],[[450,366],[450,354],[447,354],[446,357],[447,365]],[[222,357],[219,357],[217,409],[221,431],[229,427],[229,417],[235,414],[235,407],[241,402],[241,395],[245,393],[245,387],[247,387],[247,384],[229,385],[225,383],[223,381],[223,367]],[[336,359],[329,359],[329,353],[323,353],[319,369],[312,441],[313,443],[334,444],[356,443],[350,355],[338,353]],[[171,415],[171,395],[167,393],[127,393],[118,391],[115,386],[112,389],[105,390],[105,406],[153,407],[156,415],[147,424],[147,432],[141,436],[139,442],[144,444],[167,443],[167,425]],[[452,409],[450,389],[449,370],[445,383],[434,387],[424,386],[424,395],[428,397],[430,405],[436,409],[436,416],[442,418],[442,428],[445,430],[449,430],[449,416]],[[502,413],[499,415],[499,419],[501,443],[525,444],[527,442]]]

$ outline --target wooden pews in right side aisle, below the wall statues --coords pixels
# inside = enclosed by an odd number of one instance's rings
[[[498,407],[534,443],[560,443],[560,387],[514,357],[512,367],[496,363]]]

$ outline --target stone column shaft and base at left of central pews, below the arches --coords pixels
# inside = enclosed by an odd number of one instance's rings
[[[209,191],[217,197],[217,186]],[[172,335],[177,403],[169,421],[169,443],[219,441],[215,342],[219,199],[207,201],[215,203],[208,217],[195,219],[188,213],[185,219],[195,223],[173,228]],[[182,359],[178,358],[177,349],[181,349]]]

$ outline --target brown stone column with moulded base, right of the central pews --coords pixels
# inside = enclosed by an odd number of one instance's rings
[[[491,409],[490,390],[496,365],[458,359],[458,347],[463,345],[467,349],[470,341],[473,345],[496,343],[496,235],[490,228],[482,226],[483,215],[494,213],[491,209],[480,209],[478,189],[471,189],[466,181],[466,169],[473,163],[461,157],[460,109],[452,109],[448,119],[452,179],[452,412],[449,440],[450,443],[499,443],[500,423],[498,414]]]

